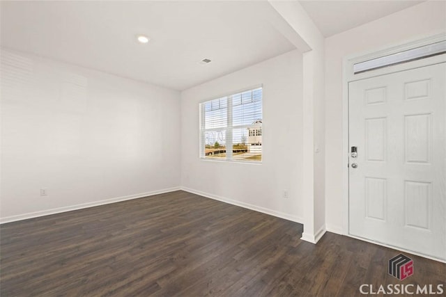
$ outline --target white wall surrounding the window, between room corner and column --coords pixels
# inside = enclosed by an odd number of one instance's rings
[[[263,162],[199,159],[199,102],[263,84]],[[295,51],[181,93],[182,186],[302,221],[302,54]],[[289,198],[283,198],[284,189]]]

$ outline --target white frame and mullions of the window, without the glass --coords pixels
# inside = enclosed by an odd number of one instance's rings
[[[236,95],[238,93],[243,93],[243,92],[247,92],[247,91],[252,91],[252,90],[256,90],[258,88],[262,89],[262,98],[261,98],[261,106],[262,106],[262,128],[263,129],[263,84],[259,84],[259,85],[255,85],[255,86],[251,86],[249,88],[243,88],[243,89],[239,89],[239,90],[235,90],[235,91],[231,91],[229,93],[224,93],[223,95],[219,95],[219,96],[213,96],[211,99],[203,99],[201,101],[199,101],[199,159],[203,160],[203,161],[216,161],[216,162],[230,162],[230,163],[247,163],[247,164],[257,164],[260,165],[261,163],[263,163],[263,152],[262,152],[262,159],[261,161],[240,161],[240,160],[234,160],[233,159],[233,154],[232,154],[232,150],[226,150],[226,158],[222,158],[222,159],[211,159],[211,158],[206,158],[206,139],[205,139],[205,135],[206,132],[208,131],[225,131],[226,130],[226,147],[233,147],[233,130],[234,129],[243,129],[243,128],[248,128],[248,127],[252,127],[252,125],[233,125],[233,100],[232,100],[232,96]],[[221,99],[226,97],[226,126],[225,127],[219,127],[219,128],[209,128],[209,129],[205,129],[205,104],[206,102],[210,102],[212,100],[215,99]],[[262,131],[263,134],[263,131]],[[263,136],[262,136],[263,139]],[[262,141],[263,143],[263,141]],[[263,147],[263,145],[262,145]],[[263,148],[262,148],[263,150]]]

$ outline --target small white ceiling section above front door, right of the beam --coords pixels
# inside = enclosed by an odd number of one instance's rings
[[[300,1],[325,36],[347,31],[424,1]]]

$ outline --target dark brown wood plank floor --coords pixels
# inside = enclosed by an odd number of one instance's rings
[[[446,264],[176,191],[0,226],[1,296],[360,296],[360,284],[442,284]],[[375,290],[376,290],[375,289]],[[446,289],[446,286],[445,286]],[[410,295],[413,296],[413,295]]]

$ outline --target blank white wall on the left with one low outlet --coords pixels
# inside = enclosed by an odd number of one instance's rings
[[[179,92],[3,49],[1,61],[2,221],[179,186]]]

